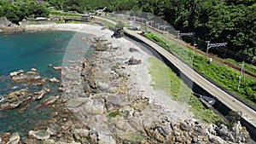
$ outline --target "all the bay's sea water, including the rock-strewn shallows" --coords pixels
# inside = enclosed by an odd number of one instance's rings
[[[61,66],[67,47],[74,45],[70,43],[83,46],[84,42],[81,39],[88,36],[78,32],[0,33],[0,77],[6,79],[4,81],[0,79],[0,95],[22,89],[19,84],[12,84],[9,78],[9,72],[20,69],[29,71],[31,68],[36,68],[41,78],[60,79],[61,73],[55,72],[52,66]],[[49,95],[58,95],[57,90],[52,89],[57,89],[59,85],[48,86],[51,88]],[[22,107],[0,111],[0,135],[3,132],[19,132],[21,136],[26,135],[38,121],[48,120],[52,110],[44,106],[35,108],[47,96],[41,101],[32,101],[25,112],[19,112]]]

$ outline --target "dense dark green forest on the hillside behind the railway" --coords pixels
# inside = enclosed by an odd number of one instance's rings
[[[18,23],[24,18],[49,15],[48,7],[64,11],[108,12],[137,10],[155,14],[182,32],[212,43],[228,43],[227,49],[256,58],[255,0],[0,0],[0,17]]]

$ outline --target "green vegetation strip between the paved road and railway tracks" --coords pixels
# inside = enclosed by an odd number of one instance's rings
[[[213,81],[224,86],[225,89],[235,92],[237,95],[241,95],[242,98],[247,101],[256,104],[256,81],[252,78],[245,76],[244,81],[241,78],[240,89],[237,89],[240,75],[239,72],[233,69],[221,65],[215,61],[208,64],[207,58],[199,54],[193,54],[193,51],[186,49],[182,45],[173,43],[172,41],[165,40],[163,37],[157,36],[153,33],[146,34],[146,37],[158,43],[160,46],[177,55],[181,60],[194,66],[195,69],[211,78]]]

